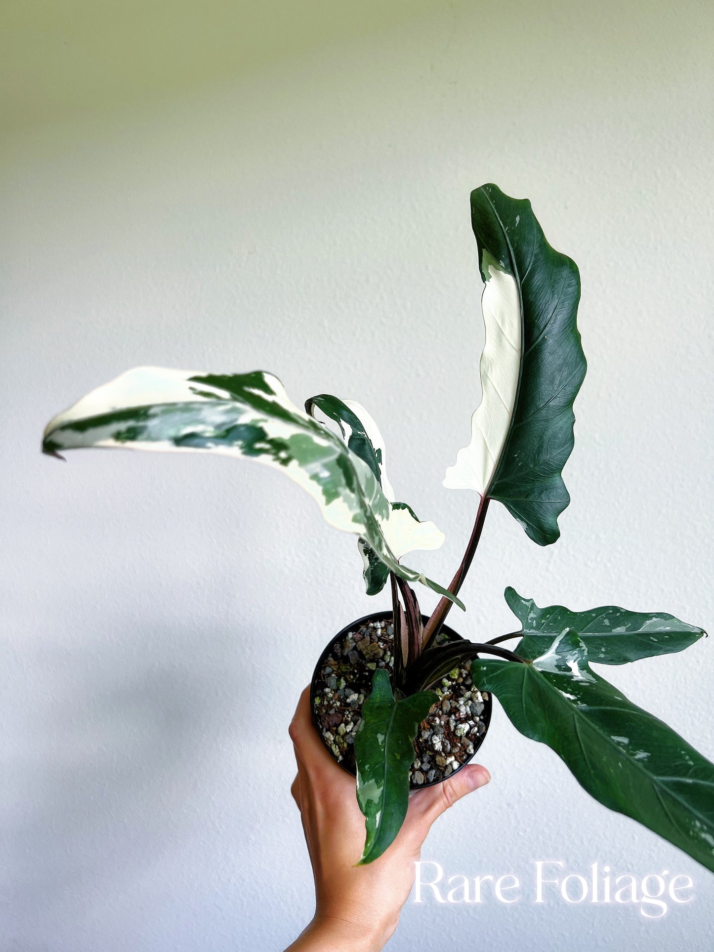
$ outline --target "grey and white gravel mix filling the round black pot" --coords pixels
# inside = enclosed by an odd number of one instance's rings
[[[312,712],[323,743],[352,774],[356,773],[353,744],[362,705],[376,668],[391,673],[393,633],[389,620],[356,626],[333,643],[313,685]],[[448,638],[440,636],[442,640]],[[482,715],[488,695],[474,688],[467,664],[457,665],[429,689],[440,701],[419,725],[409,770],[412,789],[445,780],[470,760],[486,733]]]

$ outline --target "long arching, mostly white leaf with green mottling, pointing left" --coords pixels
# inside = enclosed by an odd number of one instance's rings
[[[272,374],[129,370],[58,414],[45,430],[46,453],[87,446],[204,451],[280,469],[312,496],[331,526],[366,539],[407,581],[447,594],[423,573],[400,565],[390,539],[400,538],[403,517],[392,523],[391,506],[372,470],[295,407]]]

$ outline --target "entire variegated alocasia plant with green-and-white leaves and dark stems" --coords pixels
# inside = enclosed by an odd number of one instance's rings
[[[471,219],[485,283],[482,400],[445,486],[475,490],[478,506],[447,587],[403,564],[415,549],[438,548],[444,534],[397,500],[379,429],[352,401],[321,394],[304,411],[263,371],[139,367],[54,417],[43,449],[57,456],[118,446],[253,459],[282,469],[331,526],[358,537],[367,594],[389,582],[395,638],[391,676],[375,671],[354,743],[367,827],[361,863],[387,849],[406,815],[414,739],[436,700],[429,686],[470,662],[474,684],[499,698],[526,737],[555,750],[600,803],[714,871],[714,764],[590,667],[681,651],[704,635],[702,628],[614,605],[539,608],[506,588],[517,631],[486,644],[437,638],[451,605],[464,607],[459,590],[491,500],[503,503],[538,545],[558,539],[558,517],[569,502],[562,471],[573,448],[572,407],[585,377],[574,262],[548,245],[528,201],[494,185],[471,193]],[[426,624],[415,582],[441,596]],[[519,638],[515,651],[499,644],[510,638]]]

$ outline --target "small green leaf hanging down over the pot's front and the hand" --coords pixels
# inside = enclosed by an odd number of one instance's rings
[[[438,700],[433,691],[419,691],[396,701],[387,671],[377,668],[374,672],[371,694],[362,707],[362,724],[354,737],[357,802],[367,826],[359,865],[382,856],[404,823],[414,739]]]

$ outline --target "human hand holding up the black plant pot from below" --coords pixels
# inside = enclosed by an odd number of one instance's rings
[[[444,783],[412,793],[394,843],[373,863],[357,866],[365,818],[355,780],[322,744],[310,719],[308,687],[289,734],[298,767],[290,792],[312,863],[315,915],[286,952],[378,952],[397,927],[431,824],[466,793],[488,783],[490,775],[486,767],[468,764]]]

